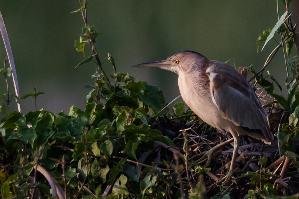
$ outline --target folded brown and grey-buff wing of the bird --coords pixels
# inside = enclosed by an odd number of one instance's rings
[[[220,61],[210,61],[206,73],[210,78],[211,97],[222,117],[248,130],[259,129],[269,140],[271,132],[265,113],[247,80]]]

